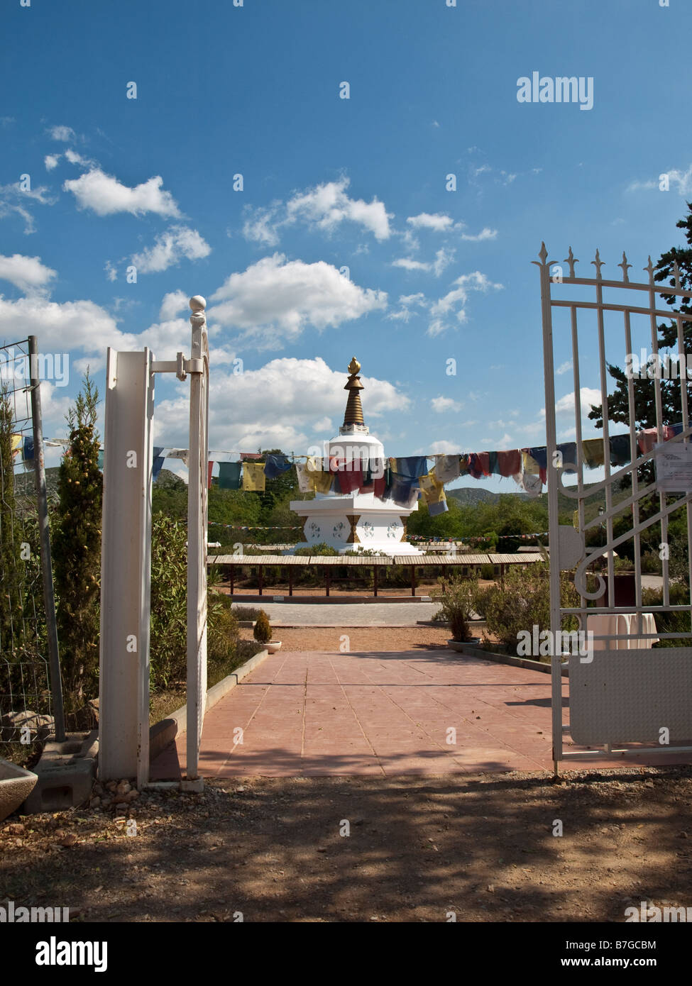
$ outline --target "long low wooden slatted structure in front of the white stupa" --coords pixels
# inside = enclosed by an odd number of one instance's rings
[[[493,565],[500,582],[504,579],[504,569],[507,565],[528,565],[543,561],[543,555],[522,552],[521,554],[424,554],[424,555],[209,555],[207,564],[223,565],[229,570],[231,596],[235,583],[236,569],[241,567],[256,567],[258,570],[258,595],[264,592],[265,568],[268,566],[285,566],[288,569],[288,595],[293,596],[293,572],[298,567],[312,566],[322,568],[325,573],[326,595],[331,589],[331,575],[335,567],[371,568],[373,572],[373,595],[377,597],[379,573],[382,569],[393,566],[406,566],[411,569],[411,595],[416,596],[416,571],[419,568],[441,568],[442,574],[447,575],[450,568],[457,571],[461,568],[462,576],[470,576],[472,569],[482,565]]]

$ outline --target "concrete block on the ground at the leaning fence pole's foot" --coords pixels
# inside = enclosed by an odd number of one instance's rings
[[[24,814],[82,805],[91,794],[99,753],[99,732],[70,733],[64,742],[46,742],[35,772],[38,782]]]

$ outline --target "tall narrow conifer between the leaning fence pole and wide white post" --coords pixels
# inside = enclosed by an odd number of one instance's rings
[[[53,534],[57,628],[72,728],[88,725],[86,704],[98,694],[103,476],[96,430],[99,391],[87,370],[67,414],[70,446],[58,473]]]

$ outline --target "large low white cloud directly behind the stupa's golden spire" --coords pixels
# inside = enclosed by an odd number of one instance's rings
[[[366,421],[399,412],[409,398],[387,381],[361,376]],[[333,437],[343,420],[346,370],[334,371],[320,357],[275,359],[239,375],[214,373],[209,381],[209,445],[216,450],[282,448],[305,453],[315,438]],[[157,444],[186,444],[187,396],[157,402]]]

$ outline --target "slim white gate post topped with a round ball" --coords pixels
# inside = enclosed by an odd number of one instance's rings
[[[190,300],[192,351],[188,483],[188,781],[198,776],[206,707],[206,521],[209,414],[209,346],[199,295]]]

